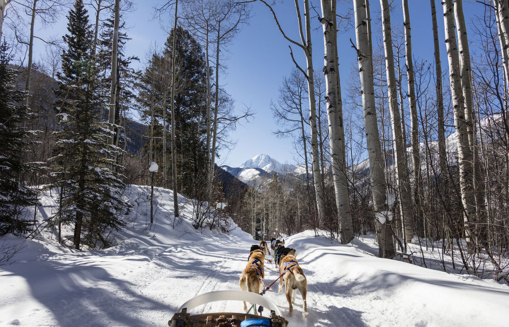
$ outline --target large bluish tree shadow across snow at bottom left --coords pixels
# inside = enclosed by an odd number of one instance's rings
[[[164,325],[177,310],[140,295],[134,291],[134,284],[89,264],[38,261],[30,263],[32,267],[16,264],[3,269],[25,278],[32,296],[51,311],[61,326]],[[168,314],[165,320],[153,321],[152,312]]]

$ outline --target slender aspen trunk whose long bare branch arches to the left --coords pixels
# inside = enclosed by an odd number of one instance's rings
[[[297,15],[299,17],[300,22],[300,10],[297,3],[295,1],[295,7],[297,10]],[[316,124],[316,99],[315,99],[315,81],[314,81],[314,68],[313,68],[313,47],[311,43],[311,16],[310,16],[310,5],[308,0],[304,0],[304,23],[306,30],[306,37],[301,35],[302,44],[305,45],[303,47],[304,54],[306,55],[306,64],[307,64],[307,93],[309,95],[310,102],[310,126],[311,126],[311,153],[312,153],[312,169],[313,169],[313,184],[315,186],[315,194],[316,194],[316,206],[318,210],[318,219],[323,222],[325,220],[325,198],[323,194],[323,179],[322,174],[320,172],[320,164],[319,164],[319,152],[318,152],[318,132],[317,132],[317,124]],[[299,24],[300,30],[302,30],[302,23]]]

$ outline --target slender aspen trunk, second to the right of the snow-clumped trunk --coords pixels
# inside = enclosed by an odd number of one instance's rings
[[[413,71],[412,57],[412,36],[410,31],[410,12],[408,10],[408,0],[402,0],[403,3],[403,25],[405,26],[405,57],[407,65],[407,83],[408,83],[408,103],[410,104],[410,129],[412,140],[412,165],[414,189],[413,198],[415,203],[415,212],[417,218],[417,231],[420,236],[424,236],[424,215],[422,208],[423,183],[421,171],[421,151],[419,149],[419,120],[417,119],[417,100],[415,97],[415,76]],[[403,107],[403,102],[401,104]],[[406,146],[406,145],[405,145]]]

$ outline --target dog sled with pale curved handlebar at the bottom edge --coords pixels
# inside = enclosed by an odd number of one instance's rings
[[[191,315],[188,311],[198,305],[215,301],[245,301],[256,303],[270,312],[269,317],[249,313],[205,313]],[[260,311],[260,310],[259,310]],[[256,310],[254,311],[256,313]],[[215,291],[198,295],[181,305],[168,321],[170,327],[287,327],[278,306],[256,293],[244,291]]]

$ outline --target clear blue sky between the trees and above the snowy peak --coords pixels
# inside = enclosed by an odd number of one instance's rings
[[[167,34],[161,28],[158,19],[153,18],[153,7],[162,1],[134,0],[136,10],[125,13],[124,19],[129,29],[128,34],[132,38],[126,45],[126,53],[137,55],[141,61],[145,57],[148,48],[154,43],[159,46],[166,41]],[[414,57],[420,57],[433,62],[433,39],[431,33],[430,4],[428,0],[409,0],[410,17],[412,26],[412,46]],[[320,3],[312,1],[317,11],[320,11]],[[439,37],[442,56],[442,69],[447,70],[447,56],[445,52],[443,14],[439,0],[435,1]],[[371,16],[373,20],[373,40],[381,40],[380,7],[378,1],[371,1]],[[344,15],[349,9],[353,9],[352,1],[340,0],[338,2],[338,14]],[[297,39],[298,29],[294,3],[286,1],[276,2],[275,10],[278,14],[286,33]],[[302,10],[302,8],[301,8]],[[313,9],[312,14],[315,15]],[[471,18],[475,14],[483,12],[483,5],[473,0],[464,1],[464,11],[467,27],[471,26]],[[277,129],[270,112],[270,100],[278,97],[278,88],[283,76],[288,75],[294,64],[289,56],[289,43],[277,29],[277,26],[268,9],[262,3],[252,4],[252,17],[249,25],[244,26],[229,46],[226,55],[226,74],[220,75],[220,83],[236,101],[237,107],[250,106],[256,111],[254,119],[231,134],[237,145],[229,152],[221,153],[218,164],[239,166],[241,163],[254,157],[258,153],[265,153],[280,162],[294,163],[297,156],[294,152],[292,140],[277,138],[272,132]],[[352,11],[353,14],[353,11]],[[170,24],[173,20],[168,13],[163,16],[163,23]],[[393,28],[403,26],[403,14],[401,1],[394,0],[391,13]],[[323,68],[323,34],[317,18],[312,20],[313,25],[313,55],[315,71],[320,72]],[[353,25],[353,17],[352,17]],[[39,30],[39,35],[63,35],[66,32],[66,19],[63,17],[51,29]],[[472,33],[469,34],[472,37]],[[343,99],[346,97],[346,81],[350,78],[352,63],[356,65],[356,55],[350,44],[350,39],[355,43],[354,29],[350,28],[338,37],[338,50],[340,62],[341,87]],[[302,50],[293,46],[293,52],[299,64],[305,67],[305,58]],[[472,52],[472,50],[471,50]],[[35,58],[44,53],[42,44],[35,45]],[[358,77],[357,77],[358,78]],[[446,87],[447,85],[444,85]]]

